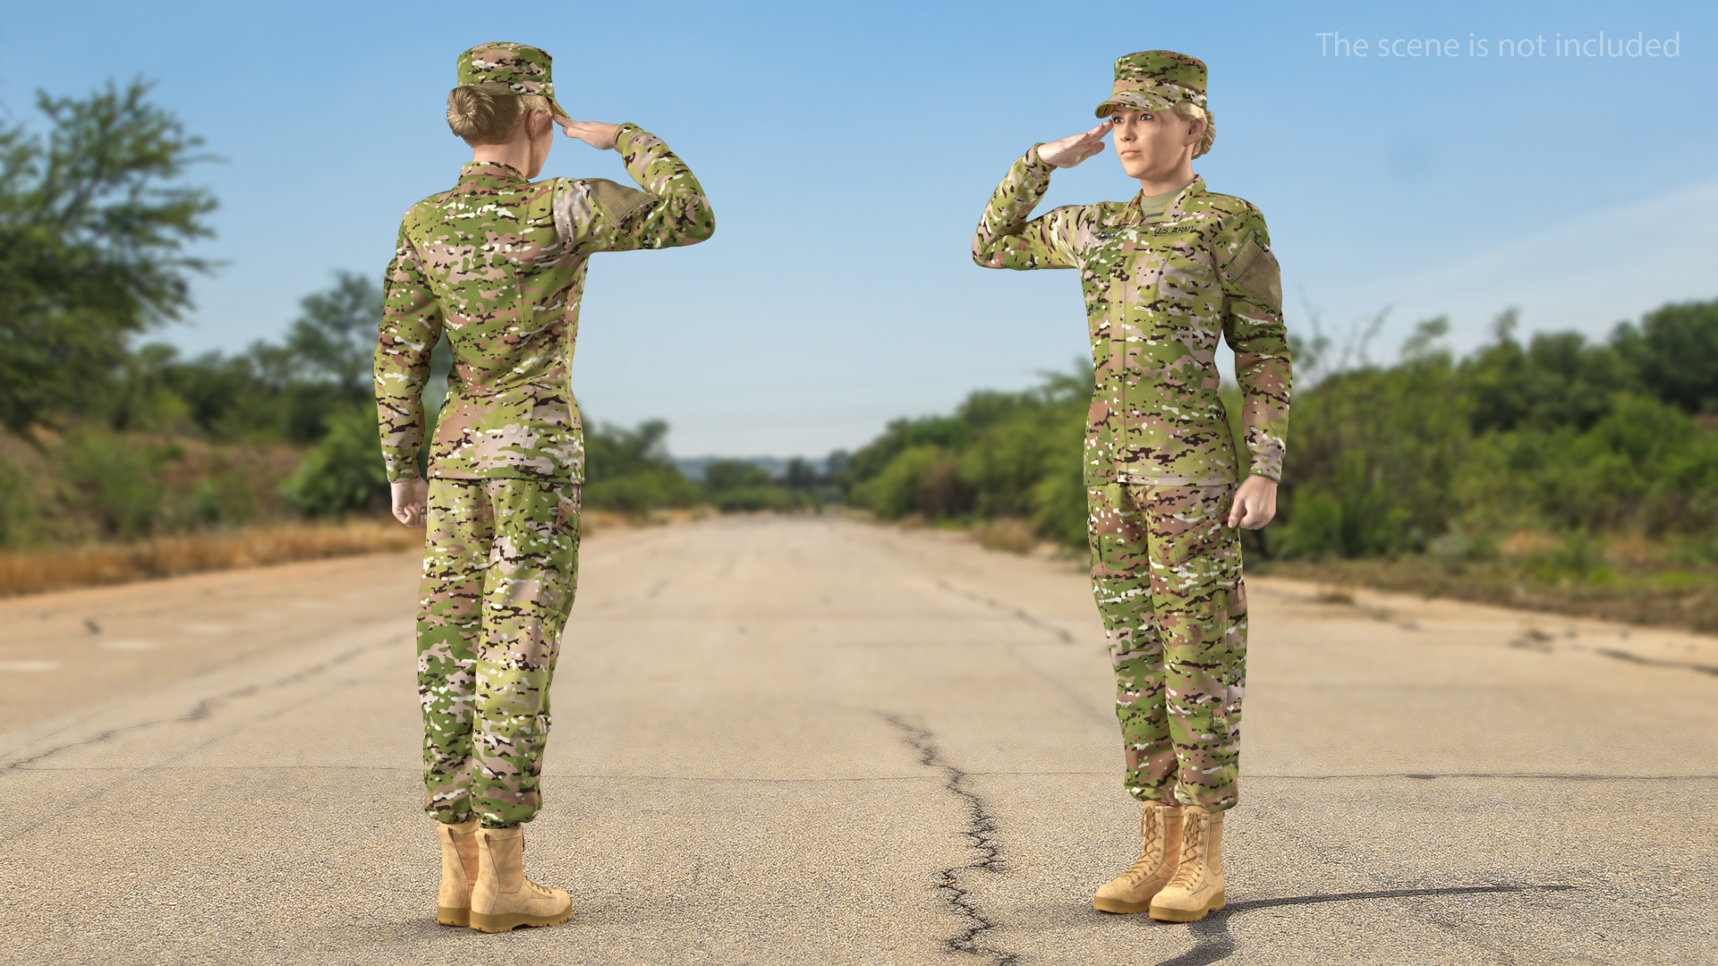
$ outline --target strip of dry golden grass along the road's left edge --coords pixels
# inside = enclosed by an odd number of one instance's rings
[[[421,545],[419,529],[407,529],[392,519],[362,519],[344,524],[259,526],[129,545],[0,553],[0,596],[122,584],[230,567],[402,552]]]

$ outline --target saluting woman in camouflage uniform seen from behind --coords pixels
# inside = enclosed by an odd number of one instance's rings
[[[584,442],[569,385],[598,251],[696,244],[715,217],[692,172],[634,124],[572,120],[550,55],[486,43],[457,60],[447,119],[472,146],[459,184],[414,205],[387,275],[376,406],[393,514],[426,526],[417,615],[424,811],[442,839],[436,921],[505,932],[572,902],[524,875],[541,810],[548,691],[577,584]],[[555,127],[617,150],[644,189],[531,180]],[[421,394],[447,333],[454,371],[419,478]]]

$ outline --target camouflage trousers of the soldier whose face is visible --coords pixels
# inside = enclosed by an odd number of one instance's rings
[[[1115,663],[1115,715],[1141,801],[1239,798],[1247,591],[1234,486],[1089,486],[1091,583]]]

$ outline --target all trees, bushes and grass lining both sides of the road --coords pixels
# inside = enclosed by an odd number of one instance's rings
[[[280,340],[239,352],[148,339],[215,268],[191,246],[216,205],[186,184],[210,160],[201,141],[148,93],[40,96],[34,125],[0,125],[0,593],[411,543],[375,523],[373,278],[337,273]],[[1297,342],[1280,514],[1246,535],[1252,572],[1718,629],[1718,301],[1596,342],[1522,340],[1505,315],[1465,358],[1445,332],[1421,323],[1390,364],[1366,359],[1366,333]],[[445,342],[433,363],[431,418]],[[584,505],[649,519],[847,502],[1081,553],[1089,394],[1086,368],[974,392],[780,478],[715,461],[692,481],[667,423],[591,425]],[[1225,402],[1234,418],[1234,387]]]

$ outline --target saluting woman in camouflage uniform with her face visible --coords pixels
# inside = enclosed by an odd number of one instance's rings
[[[1096,366],[1084,455],[1093,591],[1115,663],[1122,780],[1144,803],[1139,861],[1093,904],[1194,921],[1223,908],[1247,653],[1235,528],[1276,514],[1288,339],[1264,215],[1192,174],[1216,132],[1204,64],[1168,50],[1122,57],[1098,117],[1014,163],[972,260],[1081,273]],[[1031,218],[1050,172],[1101,153],[1110,132],[1139,194]],[[1218,395],[1218,337],[1242,390],[1244,480]]]

